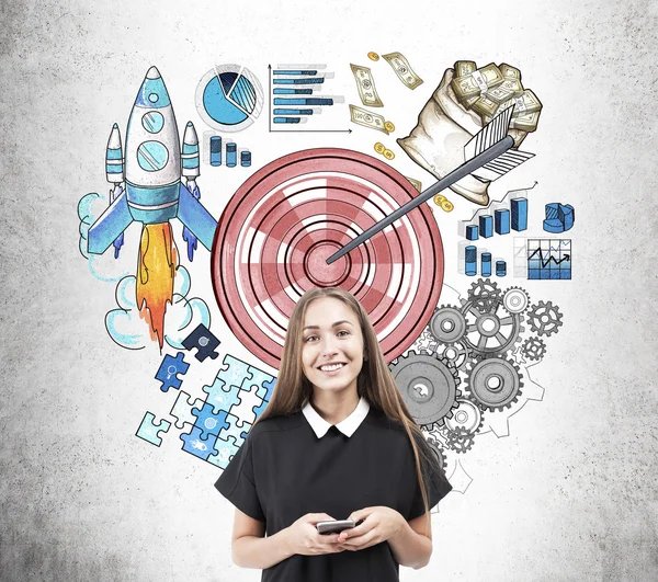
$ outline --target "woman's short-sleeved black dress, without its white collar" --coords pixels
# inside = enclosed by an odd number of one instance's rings
[[[433,507],[452,486],[443,475],[426,479]],[[374,505],[393,507],[407,521],[424,513],[409,437],[400,423],[373,406],[351,437],[332,426],[318,438],[300,411],[259,422],[215,487],[240,511],[265,522],[268,536],[307,513],[345,520]],[[261,578],[352,580],[399,581],[399,564],[387,541],[359,551],[295,555],[263,570]]]

